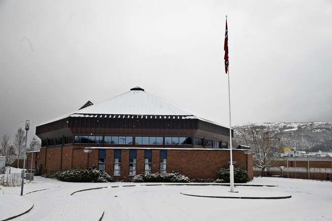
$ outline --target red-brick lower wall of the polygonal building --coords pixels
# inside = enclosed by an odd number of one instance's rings
[[[74,146],[42,148],[40,152],[37,152],[38,164],[41,164],[40,172],[43,174],[47,171],[71,169],[76,166],[98,168],[98,150],[95,148],[91,153],[85,153],[83,148]],[[105,170],[113,176],[115,149],[106,148],[104,150],[106,150]],[[144,172],[144,151],[147,149],[135,150],[137,150],[136,174],[140,174]],[[216,179],[218,169],[229,167],[230,156],[227,149],[152,149],[152,173],[159,172],[160,150],[167,150],[167,172],[181,171],[190,179]],[[29,158],[31,159],[31,154],[29,154]],[[31,163],[31,161],[29,162]],[[235,167],[247,170],[249,178],[253,179],[252,154],[244,154],[243,150],[233,150],[233,163]],[[123,179],[128,177],[128,174],[129,148],[124,148],[121,150],[121,175],[114,177]]]

